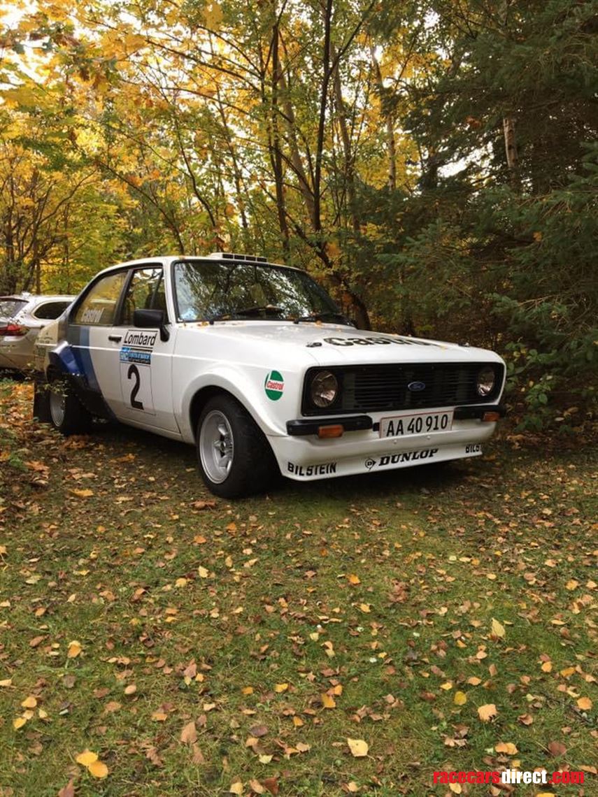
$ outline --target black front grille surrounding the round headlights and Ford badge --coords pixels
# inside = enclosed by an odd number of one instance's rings
[[[493,367],[494,389],[479,396],[476,380],[482,367]],[[313,375],[332,371],[340,384],[340,393],[332,406],[322,410],[309,398]],[[503,367],[499,363],[401,363],[348,367],[310,368],[305,375],[304,415],[342,414],[344,412],[385,412],[420,410],[426,407],[480,404],[498,398],[502,387]],[[419,382],[426,387],[411,391],[407,385]]]

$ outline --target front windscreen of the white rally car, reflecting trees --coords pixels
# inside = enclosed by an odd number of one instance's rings
[[[260,318],[295,320],[334,316],[336,304],[301,271],[230,261],[179,261],[174,265],[177,320]]]

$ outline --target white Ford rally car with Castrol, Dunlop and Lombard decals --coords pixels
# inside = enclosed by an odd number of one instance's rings
[[[222,497],[476,456],[503,414],[494,352],[358,330],[305,272],[230,253],[105,269],[36,367],[38,418],[191,443]]]

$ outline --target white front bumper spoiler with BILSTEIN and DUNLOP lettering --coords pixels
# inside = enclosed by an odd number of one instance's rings
[[[496,422],[482,421],[483,415],[491,411],[505,414],[504,407],[498,405],[457,407],[451,430],[411,434],[402,438],[380,438],[380,418],[376,414],[374,417],[310,419],[309,423],[314,426],[289,422],[291,426],[287,426],[287,436],[271,436],[268,439],[285,477],[310,481],[351,476],[462,457],[478,457],[482,454],[482,443],[490,439],[496,429]],[[340,438],[317,437],[317,426],[343,423],[352,418],[368,418],[371,424],[369,428],[362,426],[355,431],[348,431]],[[358,423],[366,422],[360,420]]]

